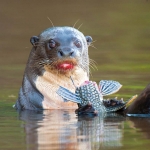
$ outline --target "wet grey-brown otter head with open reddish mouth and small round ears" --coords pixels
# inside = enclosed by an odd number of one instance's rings
[[[39,68],[66,74],[81,67],[89,72],[88,46],[90,36],[84,36],[72,27],[53,27],[44,30],[39,36],[30,39],[33,45],[33,58]],[[35,61],[34,61],[35,62]]]

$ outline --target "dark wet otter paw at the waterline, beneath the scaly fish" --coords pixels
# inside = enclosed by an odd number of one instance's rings
[[[98,112],[94,109],[92,104],[88,103],[85,106],[80,106],[75,110],[75,113],[78,115],[89,115],[89,116],[97,116]]]

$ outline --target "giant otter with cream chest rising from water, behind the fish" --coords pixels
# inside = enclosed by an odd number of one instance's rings
[[[16,109],[75,109],[56,93],[64,86],[74,92],[76,85],[89,80],[90,36],[72,27],[52,27],[30,39],[33,48],[24,72]]]

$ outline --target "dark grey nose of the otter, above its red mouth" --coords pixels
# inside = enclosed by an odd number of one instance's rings
[[[74,50],[70,48],[64,48],[64,49],[58,50],[58,56],[60,57],[74,57],[74,55],[75,55]]]

